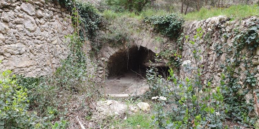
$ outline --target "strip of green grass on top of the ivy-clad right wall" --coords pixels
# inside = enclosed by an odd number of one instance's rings
[[[190,21],[190,20],[202,20],[202,19],[207,19],[209,17],[224,15],[224,16],[232,17],[232,20],[234,20],[234,19],[242,19],[245,17],[250,17],[258,14],[259,14],[259,6],[257,5],[233,5],[225,9],[202,8],[198,12],[187,13],[184,16],[184,18],[185,20]]]

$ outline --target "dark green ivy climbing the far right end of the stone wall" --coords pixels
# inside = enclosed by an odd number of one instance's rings
[[[253,93],[256,89],[258,58],[253,56],[253,52],[259,45],[259,19],[247,21],[248,26],[233,29],[234,41],[229,43],[216,44],[217,55],[226,54],[226,65],[221,68],[226,74],[228,83],[224,85],[225,101],[228,103],[229,117],[242,123],[245,126],[254,124],[255,119],[248,114],[253,112],[253,99],[246,102],[246,94]],[[227,39],[231,34],[225,33],[222,36]],[[257,63],[258,62],[258,63]],[[244,76],[244,77],[243,77]],[[238,107],[238,108],[237,108]]]

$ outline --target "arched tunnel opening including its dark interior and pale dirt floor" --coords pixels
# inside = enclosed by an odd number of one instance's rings
[[[129,94],[132,96],[146,92],[149,88],[146,83],[146,68],[152,65],[149,61],[155,62],[154,57],[153,51],[142,46],[119,50],[111,55],[107,61],[106,94],[127,97]],[[160,74],[167,74],[169,68],[163,59],[158,64]]]

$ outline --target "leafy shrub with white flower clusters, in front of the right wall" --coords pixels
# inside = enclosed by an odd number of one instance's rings
[[[194,61],[183,61],[181,67],[191,75],[190,77],[178,79],[170,69],[169,76],[165,80],[156,72],[152,72],[152,76],[147,70],[147,77],[151,77],[148,78],[148,83],[155,87],[153,91],[157,95],[163,94],[159,98],[158,96],[151,98],[156,103],[155,109],[157,109],[156,116],[152,117],[153,123],[157,123],[160,128],[223,128],[222,122],[226,118],[225,113],[228,112],[222,95],[225,75],[221,74],[220,86],[215,89],[211,87],[209,81],[206,84],[202,83],[203,66],[200,63],[201,50],[198,49],[202,34],[202,29],[198,28],[194,40],[186,36]],[[163,110],[165,102],[175,106],[166,112]]]

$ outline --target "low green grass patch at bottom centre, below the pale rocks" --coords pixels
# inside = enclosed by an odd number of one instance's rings
[[[136,113],[130,115],[126,120],[117,122],[114,126],[118,128],[130,128],[130,129],[153,129],[155,128],[152,123],[151,114]]]

